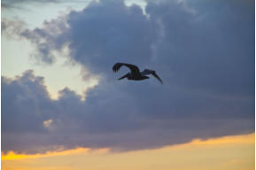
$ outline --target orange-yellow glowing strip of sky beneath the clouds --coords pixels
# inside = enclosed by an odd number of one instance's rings
[[[255,134],[233,135],[159,149],[112,152],[76,148],[44,154],[2,154],[3,170],[254,170]]]

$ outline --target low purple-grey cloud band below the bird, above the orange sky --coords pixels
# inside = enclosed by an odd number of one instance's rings
[[[85,101],[69,89],[51,100],[43,78],[31,71],[15,80],[2,78],[2,150],[37,153],[80,146],[124,151],[254,130],[252,101],[167,89],[124,81],[91,89]],[[46,120],[49,127],[43,126]]]

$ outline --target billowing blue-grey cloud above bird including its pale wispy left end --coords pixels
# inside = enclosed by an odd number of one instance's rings
[[[104,65],[101,63],[105,63],[106,71],[116,60],[147,62],[151,57],[153,32],[143,10],[137,5],[127,7],[122,1],[93,2],[82,12],[70,12],[66,20],[60,20],[53,19],[44,23],[42,28],[21,34],[37,44],[45,62],[52,62],[50,50],[58,50],[65,43],[69,44],[72,59],[94,73],[102,73]],[[51,27],[57,27],[61,32],[55,34]]]

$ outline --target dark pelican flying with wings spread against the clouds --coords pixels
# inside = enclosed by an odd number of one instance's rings
[[[149,79],[150,77],[146,76],[148,74],[152,74],[155,78],[157,78],[162,84],[163,81],[159,78],[158,74],[154,70],[144,69],[143,72],[140,72],[140,69],[135,65],[130,65],[126,63],[116,63],[112,66],[113,72],[118,72],[121,66],[127,66],[131,72],[125,74],[124,76],[120,77],[118,80],[127,78],[128,80],[133,81],[142,81],[144,79]]]

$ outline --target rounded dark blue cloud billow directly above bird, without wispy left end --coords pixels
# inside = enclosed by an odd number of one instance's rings
[[[72,56],[96,73],[108,71],[116,61],[148,63],[151,58],[154,37],[142,9],[136,5],[128,8],[122,1],[110,2],[91,4],[67,18]]]

